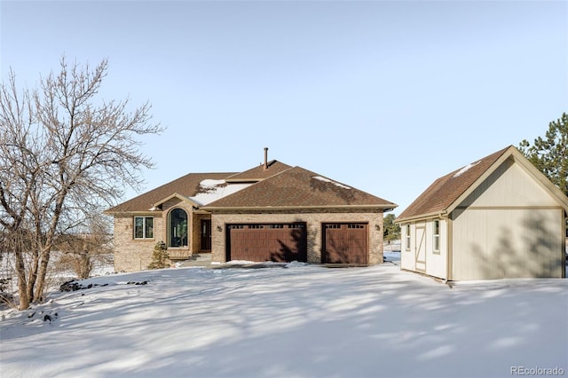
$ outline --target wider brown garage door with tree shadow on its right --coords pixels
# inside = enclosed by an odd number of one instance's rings
[[[305,223],[229,224],[227,239],[227,261],[306,261]]]

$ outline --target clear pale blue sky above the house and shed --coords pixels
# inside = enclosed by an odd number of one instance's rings
[[[398,204],[568,111],[565,1],[5,1],[0,74],[108,59],[152,104],[144,191],[269,160]],[[128,190],[125,199],[137,193]]]

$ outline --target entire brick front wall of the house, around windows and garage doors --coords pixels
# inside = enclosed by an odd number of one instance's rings
[[[321,209],[304,212],[272,212],[270,214],[200,214],[193,213],[191,204],[172,199],[163,204],[163,211],[137,214],[138,217],[154,217],[154,238],[134,239],[134,216],[114,215],[114,272],[138,272],[145,270],[152,261],[154,246],[159,241],[167,242],[168,214],[171,209],[185,209],[188,216],[188,247],[169,248],[172,258],[185,258],[199,252],[201,245],[201,219],[211,218],[211,258],[225,263],[226,224],[241,223],[293,223],[305,222],[308,237],[308,263],[321,262],[322,223],[368,223],[369,264],[383,263],[383,211],[361,210],[339,212]],[[374,212],[375,211],[375,212]],[[378,226],[378,230],[377,230]],[[220,231],[219,231],[220,230]]]

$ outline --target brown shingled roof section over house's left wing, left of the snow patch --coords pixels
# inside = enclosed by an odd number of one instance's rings
[[[184,177],[179,177],[168,184],[159,186],[149,192],[142,193],[138,197],[134,197],[129,201],[122,202],[114,208],[107,209],[108,214],[130,212],[130,211],[147,211],[152,208],[154,203],[162,201],[164,198],[173,193],[178,193],[185,197],[192,197],[200,190],[200,183],[205,179],[222,180],[225,177],[234,175],[233,172],[225,173],[190,173]]]

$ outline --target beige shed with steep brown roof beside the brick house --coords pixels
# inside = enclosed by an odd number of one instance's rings
[[[514,146],[438,178],[397,218],[401,269],[443,280],[565,277],[568,198]]]

